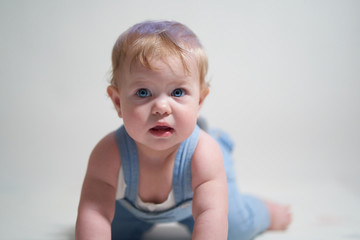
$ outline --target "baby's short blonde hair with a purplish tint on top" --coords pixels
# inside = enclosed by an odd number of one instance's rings
[[[193,56],[199,70],[200,87],[208,90],[205,77],[208,58],[197,36],[185,25],[174,21],[145,21],[138,23],[119,36],[112,51],[111,85],[118,87],[125,61],[130,68],[134,63],[153,69],[154,57],[178,56],[189,73],[188,57]]]

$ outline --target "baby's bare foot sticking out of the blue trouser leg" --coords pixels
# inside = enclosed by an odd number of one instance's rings
[[[270,231],[286,230],[291,222],[290,207],[287,205],[264,200],[270,213]]]

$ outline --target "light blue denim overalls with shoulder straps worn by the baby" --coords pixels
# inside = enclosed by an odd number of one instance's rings
[[[112,222],[112,239],[141,239],[155,223],[179,222],[193,231],[191,187],[191,160],[199,139],[200,128],[195,127],[191,136],[181,143],[175,157],[173,191],[175,207],[161,212],[145,212],[135,207],[138,196],[138,155],[134,140],[124,126],[116,131],[116,141],[121,154],[121,163],[126,182],[125,197],[116,201]],[[264,203],[252,196],[242,195],[237,189],[231,152],[233,143],[224,132],[209,132],[219,143],[225,164],[229,198],[230,240],[253,239],[269,226],[269,213]]]

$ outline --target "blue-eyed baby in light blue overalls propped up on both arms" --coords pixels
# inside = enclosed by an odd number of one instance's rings
[[[107,92],[123,126],[90,155],[76,239],[141,239],[163,222],[205,240],[287,228],[287,206],[238,191],[229,136],[198,124],[208,62],[189,28],[134,25],[116,41],[112,67]]]

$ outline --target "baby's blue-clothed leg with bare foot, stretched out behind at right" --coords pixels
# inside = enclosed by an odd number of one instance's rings
[[[286,229],[291,221],[288,207],[241,194],[236,184],[231,139],[219,130],[212,130],[211,135],[222,149],[228,180],[228,239],[253,239],[266,230]]]

